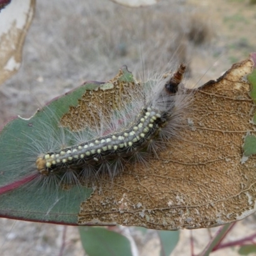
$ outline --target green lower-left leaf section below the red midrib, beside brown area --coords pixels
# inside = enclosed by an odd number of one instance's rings
[[[76,187],[68,191],[43,191],[36,186],[20,187],[1,195],[0,216],[76,225],[79,205],[93,190],[84,188],[83,191],[81,193],[81,189],[78,191]]]

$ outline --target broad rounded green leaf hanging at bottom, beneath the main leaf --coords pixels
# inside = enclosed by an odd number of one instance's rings
[[[132,256],[129,240],[102,227],[79,227],[81,242],[89,256]]]

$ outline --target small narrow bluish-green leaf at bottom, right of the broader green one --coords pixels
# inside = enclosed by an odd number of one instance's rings
[[[178,231],[157,231],[161,244],[161,256],[168,256],[172,253],[175,246],[179,242]]]

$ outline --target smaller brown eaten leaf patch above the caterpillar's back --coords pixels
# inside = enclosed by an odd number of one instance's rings
[[[111,109],[117,109],[118,106],[122,107],[125,102],[131,100],[129,90],[134,91],[135,83],[122,79],[124,74],[128,73],[131,74],[124,66],[107,83],[99,83],[99,86],[94,90],[86,90],[81,99],[78,100],[77,106],[71,106],[68,113],[62,116],[61,125],[69,127],[72,131],[81,130],[84,127],[100,127],[100,120],[102,118],[108,119]],[[70,122],[70,120],[72,121]]]

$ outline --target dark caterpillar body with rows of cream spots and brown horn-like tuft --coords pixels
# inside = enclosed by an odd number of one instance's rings
[[[175,96],[179,91],[178,86],[185,68],[184,65],[180,65],[170,81],[156,84],[159,88],[150,85],[148,95],[143,93],[139,95],[145,97],[145,106],[142,108],[134,106],[131,102],[132,109],[135,108],[136,111],[129,116],[129,122],[126,120],[127,125],[121,129],[115,127],[114,131],[109,134],[107,132],[104,136],[102,134],[97,138],[88,136],[83,143],[38,156],[36,159],[38,172],[49,175],[49,173],[63,173],[66,168],[71,168],[75,170],[74,175],[79,179],[84,173],[90,175],[94,168],[96,173],[100,170],[108,170],[109,175],[115,177],[118,170],[122,169],[124,160],[129,161],[136,156],[138,158],[138,154],[144,150],[148,151],[148,154],[152,151],[156,154],[156,149],[152,146],[154,140],[159,139],[157,147],[164,148],[162,142],[168,141],[173,135],[172,130],[175,128],[172,127],[172,123],[176,122],[175,118],[179,118],[181,114]],[[138,105],[138,102],[136,104]],[[122,109],[122,112],[121,116],[127,118],[127,109]]]

